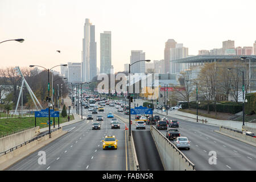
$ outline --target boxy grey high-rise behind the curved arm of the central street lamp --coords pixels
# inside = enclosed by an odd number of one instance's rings
[[[139,60],[145,60],[145,53],[141,50],[131,51],[130,64]],[[131,66],[131,73],[145,73],[145,61],[140,61]]]

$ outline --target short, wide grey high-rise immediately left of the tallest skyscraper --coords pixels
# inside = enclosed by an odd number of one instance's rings
[[[68,82],[79,83],[81,82],[82,75],[81,63],[68,63]]]

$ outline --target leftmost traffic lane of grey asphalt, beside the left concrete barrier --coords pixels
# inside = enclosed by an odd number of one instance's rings
[[[46,170],[46,166],[52,162],[53,158],[57,158],[60,154],[62,154],[64,149],[69,146],[70,143],[74,142],[74,140],[77,138],[82,137],[82,131],[88,126],[88,123],[81,123],[80,127],[76,127],[60,138],[53,140],[51,143],[40,148],[38,151],[35,151],[26,158],[23,158],[19,162],[13,164],[13,166],[7,168],[7,170]],[[40,165],[38,163],[40,158],[38,155],[39,151],[46,152],[46,164]]]

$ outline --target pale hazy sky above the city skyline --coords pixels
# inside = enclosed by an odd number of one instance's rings
[[[112,31],[115,72],[130,62],[131,50],[163,59],[168,39],[183,43],[189,55],[221,48],[224,40],[253,46],[255,12],[255,0],[0,0],[0,42],[25,39],[0,44],[0,68],[81,62],[86,18],[96,27],[98,68],[100,33]]]

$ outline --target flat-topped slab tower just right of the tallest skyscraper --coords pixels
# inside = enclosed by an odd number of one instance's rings
[[[101,33],[101,73],[111,73],[111,31]]]

